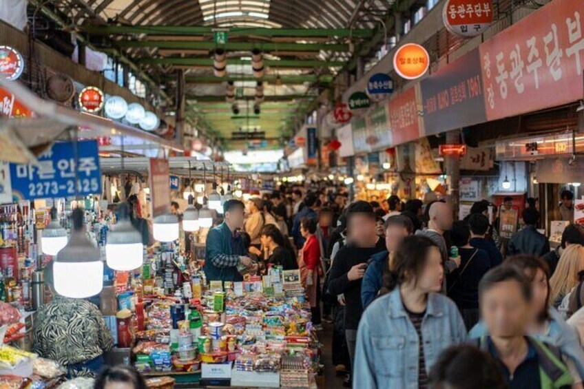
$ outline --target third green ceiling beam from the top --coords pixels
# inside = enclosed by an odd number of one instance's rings
[[[213,66],[212,58],[144,58],[138,60],[140,65],[176,65],[176,66]],[[251,60],[228,58],[227,65],[251,65]],[[283,59],[280,61],[264,60],[264,65],[271,67],[342,67],[346,61],[319,61],[316,59]]]

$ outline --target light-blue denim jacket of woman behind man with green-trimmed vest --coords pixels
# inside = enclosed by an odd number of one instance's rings
[[[564,319],[560,313],[550,306],[547,310],[550,319],[547,322],[547,333],[534,334],[533,337],[539,341],[545,341],[547,344],[556,346],[560,349],[564,357],[572,359],[578,375],[584,378],[584,350],[582,350],[576,333]],[[487,335],[487,329],[483,322],[477,323],[476,326],[470,330],[469,337],[471,339],[480,338]]]

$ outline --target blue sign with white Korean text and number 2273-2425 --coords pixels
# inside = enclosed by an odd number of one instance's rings
[[[37,159],[39,165],[10,164],[12,192],[17,196],[33,200],[101,193],[96,140],[55,143]]]

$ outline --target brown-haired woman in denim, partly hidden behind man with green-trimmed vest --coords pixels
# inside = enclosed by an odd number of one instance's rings
[[[574,381],[581,382],[584,377],[584,351],[578,344],[578,339],[572,328],[564,322],[560,313],[550,306],[549,268],[545,261],[532,255],[514,255],[504,262],[505,266],[513,266],[521,271],[532,285],[532,322],[528,333],[534,338],[545,341],[561,350],[567,361],[567,367]],[[479,322],[469,336],[479,338],[487,335],[483,322]],[[577,373],[577,375],[576,375]]]

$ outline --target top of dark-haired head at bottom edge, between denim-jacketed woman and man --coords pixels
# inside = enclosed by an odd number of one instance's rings
[[[476,347],[444,350],[430,370],[432,389],[506,389],[497,361]]]

